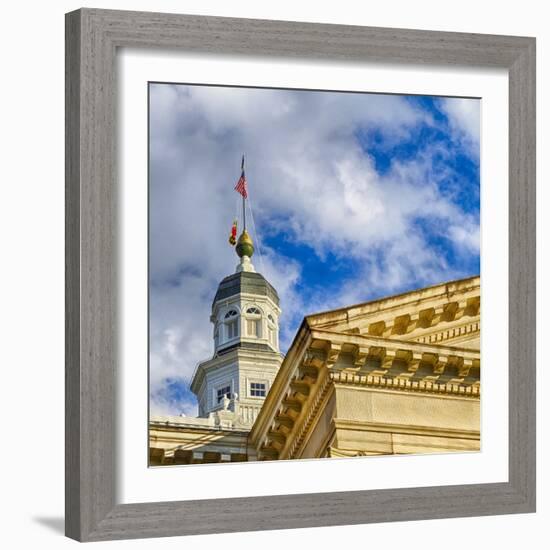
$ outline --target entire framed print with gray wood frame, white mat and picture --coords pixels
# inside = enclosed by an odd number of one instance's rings
[[[66,29],[67,535],[534,511],[534,39]]]

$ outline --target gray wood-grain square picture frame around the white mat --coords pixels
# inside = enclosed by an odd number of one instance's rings
[[[115,502],[117,48],[509,71],[509,481]],[[535,39],[82,9],[66,16],[66,534],[81,541],[535,511]]]

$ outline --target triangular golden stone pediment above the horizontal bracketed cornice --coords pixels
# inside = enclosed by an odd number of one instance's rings
[[[480,278],[310,315],[311,328],[479,350]]]

